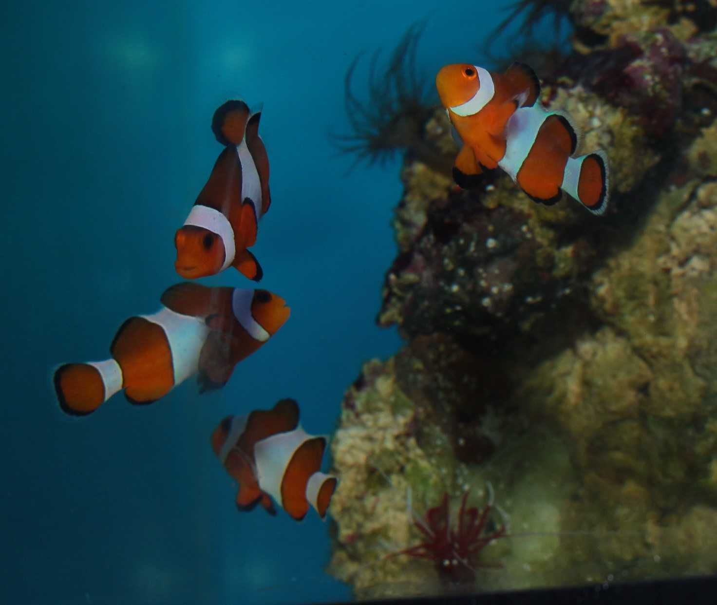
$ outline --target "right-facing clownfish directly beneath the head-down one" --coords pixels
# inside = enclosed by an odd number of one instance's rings
[[[152,315],[129,318],[110,345],[110,359],[65,363],[54,389],[67,414],[84,416],[118,391],[151,404],[199,373],[199,392],[229,380],[239,361],[257,351],[289,317],[285,301],[266,290],[183,282],[162,295]]]

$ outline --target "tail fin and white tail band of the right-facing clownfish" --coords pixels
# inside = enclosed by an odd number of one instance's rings
[[[122,389],[122,369],[114,359],[65,363],[52,375],[60,409],[70,416],[92,414]]]

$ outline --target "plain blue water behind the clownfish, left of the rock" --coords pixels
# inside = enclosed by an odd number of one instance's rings
[[[429,84],[447,62],[485,63],[505,4],[3,3],[0,601],[350,598],[323,573],[328,523],[238,513],[209,434],[285,396],[308,432],[331,433],[361,362],[398,348],[374,317],[399,157],[346,174],[353,158],[327,140],[348,130],[343,77],[426,16]],[[174,231],[221,151],[209,123],[229,97],[264,103],[273,204],[254,251],[289,322],[222,391],[199,397],[190,380],[153,406],[118,395],[65,416],[52,367],[106,358],[123,320],[180,281]],[[203,282],[251,287],[234,270]]]

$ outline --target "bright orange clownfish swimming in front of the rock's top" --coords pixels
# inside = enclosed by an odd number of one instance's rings
[[[513,63],[500,74],[467,63],[446,65],[436,87],[462,139],[453,168],[458,185],[470,186],[483,168],[500,166],[538,203],[555,204],[562,190],[593,214],[603,214],[607,155],[572,157],[576,129],[565,113],[543,108],[540,82],[530,67]]]

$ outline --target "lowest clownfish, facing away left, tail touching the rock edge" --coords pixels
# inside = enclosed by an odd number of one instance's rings
[[[227,416],[212,432],[211,442],[224,469],[239,483],[239,510],[261,502],[275,515],[273,497],[297,521],[309,505],[320,518],[326,517],[337,483],[336,477],[319,470],[326,437],[304,432],[293,399],[282,399],[270,410]]]

